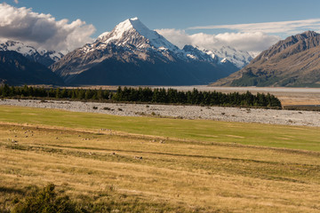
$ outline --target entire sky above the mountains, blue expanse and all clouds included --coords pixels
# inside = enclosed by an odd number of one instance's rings
[[[316,0],[5,0],[1,3],[0,22],[4,17],[12,19],[5,28],[5,23],[0,23],[2,40],[20,39],[56,50],[66,47],[71,51],[92,42],[132,17],[139,17],[148,28],[156,29],[179,47],[194,44],[210,49],[230,45],[244,51],[263,51],[286,36],[305,30],[320,31],[320,1]],[[23,7],[26,9],[19,10]],[[41,20],[41,25],[37,20]],[[36,31],[21,28],[17,33],[21,21]],[[44,31],[45,34],[41,33]]]

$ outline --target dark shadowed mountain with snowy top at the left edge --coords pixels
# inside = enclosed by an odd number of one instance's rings
[[[20,42],[0,43],[0,83],[63,85],[62,79],[48,68],[62,57],[60,52],[37,51]]]

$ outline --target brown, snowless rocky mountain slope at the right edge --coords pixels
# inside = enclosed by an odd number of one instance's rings
[[[287,37],[212,85],[320,87],[320,34],[307,31]]]

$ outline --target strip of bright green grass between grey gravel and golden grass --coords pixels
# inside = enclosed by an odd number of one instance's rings
[[[0,106],[0,114],[0,122],[29,123],[85,130],[108,129],[132,134],[203,142],[238,143],[320,151],[320,129],[311,127],[125,117],[17,106]]]

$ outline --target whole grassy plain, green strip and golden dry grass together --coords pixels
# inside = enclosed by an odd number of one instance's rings
[[[0,210],[30,185],[54,183],[120,212],[320,211],[319,128],[14,106],[0,114]]]

